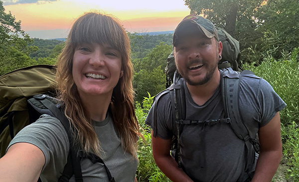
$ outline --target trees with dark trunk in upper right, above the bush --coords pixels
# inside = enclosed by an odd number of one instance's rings
[[[185,4],[191,13],[203,13],[235,35],[243,63],[259,64],[268,54],[279,60],[282,52],[298,47],[298,0],[185,0]]]

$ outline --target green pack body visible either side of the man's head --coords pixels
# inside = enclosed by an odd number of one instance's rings
[[[235,71],[244,70],[243,64],[241,62],[241,52],[239,41],[233,38],[229,33],[223,28],[215,27],[218,33],[219,41],[222,42],[222,58],[218,63],[218,68],[228,68],[231,67]],[[171,83],[173,83],[173,75],[176,70],[174,56],[172,53],[167,58],[167,65],[165,68],[166,74],[166,88],[168,88]]]

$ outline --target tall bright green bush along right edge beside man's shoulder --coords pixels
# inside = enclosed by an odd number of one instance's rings
[[[299,182],[299,48],[282,53],[283,59],[268,56],[259,66],[245,64],[245,69],[267,80],[287,103],[280,112],[282,122],[283,160],[288,182]]]

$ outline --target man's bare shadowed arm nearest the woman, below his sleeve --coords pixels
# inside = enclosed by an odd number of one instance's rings
[[[153,133],[153,132],[151,132]],[[171,139],[164,140],[151,135],[152,155],[156,165],[173,182],[193,182],[170,156]]]

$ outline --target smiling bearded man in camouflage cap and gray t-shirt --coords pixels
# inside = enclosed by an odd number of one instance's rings
[[[230,124],[210,124],[211,120],[226,117],[219,87],[222,71],[217,68],[222,43],[213,23],[201,16],[186,16],[174,31],[173,48],[183,78],[186,119],[204,122],[184,125],[179,168],[169,152],[177,131],[170,96],[163,94],[155,100],[156,114],[152,107],[146,123],[156,131],[152,152],[157,166],[173,182],[270,182],[282,157],[279,111],[286,103],[265,80],[253,75],[240,79],[240,115],[251,127],[249,130],[258,133],[260,141],[255,168],[254,159],[253,165],[248,162],[245,142]],[[254,170],[253,176],[250,172]]]

